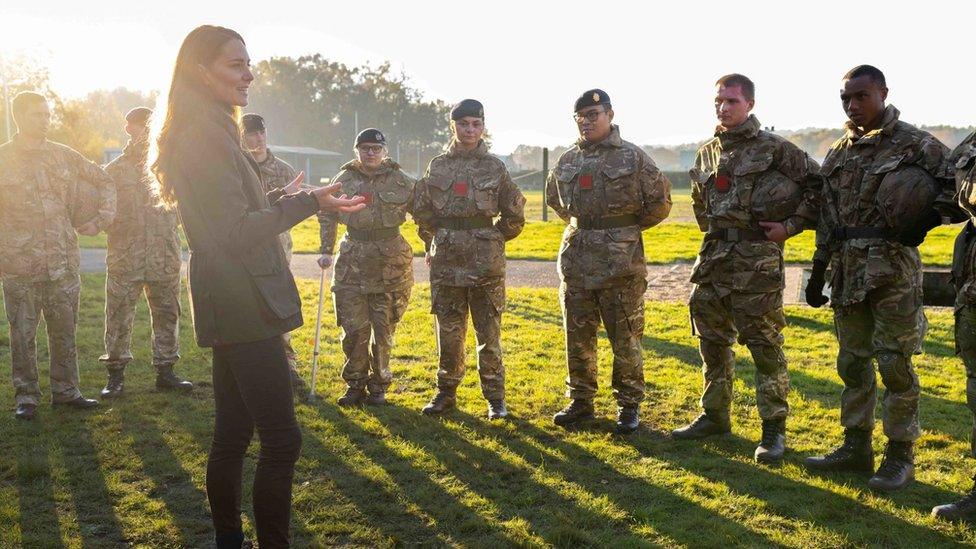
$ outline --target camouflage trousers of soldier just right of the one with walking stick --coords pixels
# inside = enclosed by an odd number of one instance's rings
[[[489,400],[505,398],[505,366],[502,364],[501,346],[504,281],[466,287],[434,284],[430,293],[430,308],[437,319],[437,343],[440,349],[437,387],[454,389],[464,377],[464,339],[470,311],[478,350],[481,394]]]

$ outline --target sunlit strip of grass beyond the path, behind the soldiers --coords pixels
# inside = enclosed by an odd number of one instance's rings
[[[515,240],[506,245],[509,259],[532,259],[554,261],[559,252],[559,242],[565,225],[556,215],[549,212],[549,222],[542,220],[542,193],[526,193],[525,230]],[[671,216],[661,225],[644,232],[644,252],[648,263],[664,264],[675,261],[694,261],[701,246],[702,233],[694,221],[691,210],[691,197],[687,194],[673,196],[674,207]],[[342,228],[340,227],[340,230]],[[939,227],[929,233],[920,247],[922,261],[929,266],[948,266],[952,263],[952,244],[959,233],[957,227]],[[340,233],[341,234],[341,233]],[[403,234],[410,241],[416,255],[423,254],[423,243],[417,236],[416,225],[407,221]],[[292,229],[295,253],[318,253],[319,228],[315,218],[306,219]],[[104,248],[105,236],[79,237],[83,248]],[[790,239],[786,244],[786,261],[790,263],[809,263],[813,257],[814,234],[805,231]]]

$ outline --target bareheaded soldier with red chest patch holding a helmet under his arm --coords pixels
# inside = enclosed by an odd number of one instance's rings
[[[749,114],[755,86],[741,74],[716,82],[719,126],[691,169],[691,197],[705,233],[691,275],[691,318],[704,362],[703,413],[676,429],[697,439],[731,431],[736,335],[756,364],[756,404],[763,422],[755,458],[783,458],[790,379],[783,355],[783,242],[816,228],[818,166],[796,145],[760,129]]]

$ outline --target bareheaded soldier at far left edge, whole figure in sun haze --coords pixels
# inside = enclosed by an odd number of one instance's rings
[[[95,235],[109,226],[115,186],[78,152],[47,140],[51,113],[43,96],[22,92],[12,111],[18,133],[0,146],[0,276],[16,417],[32,419],[41,398],[35,341],[40,315],[47,324],[54,404],[98,405],[78,390],[75,327],[81,278],[75,229]],[[86,204],[92,207],[83,208]]]

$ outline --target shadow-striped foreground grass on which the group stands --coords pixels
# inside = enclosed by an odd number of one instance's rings
[[[104,279],[92,275],[84,282],[81,378],[84,392],[94,396],[104,381],[95,360],[101,352]],[[300,286],[306,318],[314,319],[316,283]],[[965,458],[970,419],[963,368],[953,356],[950,313],[929,315],[926,354],[917,360],[923,387],[918,481],[882,497],[865,490],[862,477],[814,476],[799,466],[803,456],[825,450],[841,435],[829,312],[787,309],[791,450],[784,465],[766,467],[751,459],[759,420],[754,367],[741,348],[734,433],[705,443],[664,435],[696,413],[701,385],[696,343],[680,305],[648,304],[648,400],[634,436],[612,434],[610,360],[602,340],[600,418],[580,430],[551,425],[551,414],[564,404],[565,377],[552,290],[509,292],[503,346],[510,421],[483,419],[475,372],[466,376],[457,412],[423,417],[419,409],[432,393],[435,369],[428,299],[428,289],[418,286],[394,350],[393,405],[380,409],[335,406],[342,391],[340,357],[327,315],[318,387],[325,398],[297,407],[304,447],[295,478],[296,547],[976,543],[973,531],[928,517],[932,505],[969,488],[974,468]],[[0,547],[208,546],[208,353],[195,348],[185,323],[178,371],[201,383],[190,397],[156,393],[144,306],[138,318],[136,360],[123,400],[90,413],[43,405],[39,419],[24,424],[12,417],[7,386],[8,406],[0,415]],[[306,357],[311,324],[295,337]],[[0,334],[0,364],[9,372],[5,326]],[[39,347],[45,364],[43,335]],[[45,390],[46,377],[44,366]],[[880,426],[876,435],[880,450]],[[256,453],[254,445],[247,479]],[[253,533],[250,521],[247,529]]]

